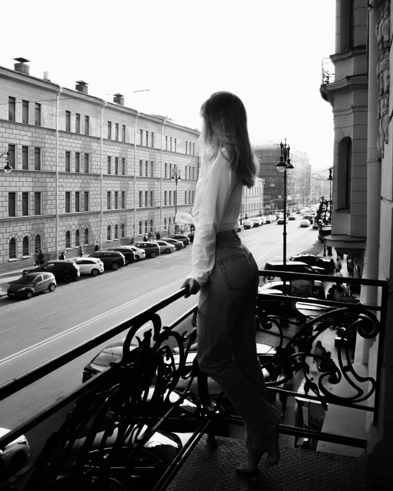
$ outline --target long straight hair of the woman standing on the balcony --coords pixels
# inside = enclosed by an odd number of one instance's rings
[[[201,155],[212,161],[221,152],[243,185],[254,186],[259,162],[249,141],[243,102],[230,92],[215,92],[203,102],[201,117],[198,141]]]

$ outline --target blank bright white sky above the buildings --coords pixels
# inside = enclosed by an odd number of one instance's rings
[[[0,65],[200,128],[210,94],[243,100],[254,144],[287,137],[313,168],[333,165],[333,115],[319,95],[335,47],[335,0],[20,0],[2,5]],[[15,7],[15,5],[17,5]],[[146,92],[137,92],[150,89]]]

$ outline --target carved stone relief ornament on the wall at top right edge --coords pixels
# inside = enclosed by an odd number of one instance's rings
[[[389,123],[392,115],[389,116],[389,87],[390,87],[390,0],[385,3],[374,0],[372,5],[375,8],[381,7],[381,16],[375,26],[375,36],[377,44],[381,51],[381,61],[377,65],[377,80],[380,91],[378,98],[378,119],[379,119],[379,137],[377,148],[381,157],[384,156],[385,144],[389,143]]]

